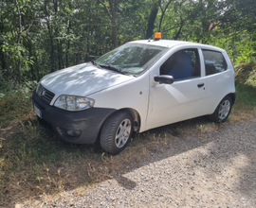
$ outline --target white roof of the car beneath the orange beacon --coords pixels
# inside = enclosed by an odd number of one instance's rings
[[[142,43],[142,44],[151,44],[151,45],[157,45],[157,46],[162,46],[162,47],[174,47],[176,45],[185,45],[187,44],[188,46],[196,46],[196,47],[205,47],[208,49],[217,49],[217,50],[223,50],[222,48],[215,47],[209,44],[202,44],[202,43],[192,43],[192,42],[182,42],[182,41],[173,41],[173,40],[159,40],[159,41],[154,41],[154,40],[140,40],[140,41],[133,41],[129,43]]]

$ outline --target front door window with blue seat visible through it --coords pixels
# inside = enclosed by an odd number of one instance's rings
[[[174,80],[201,76],[197,49],[183,49],[175,52],[160,67],[160,75],[171,75]]]

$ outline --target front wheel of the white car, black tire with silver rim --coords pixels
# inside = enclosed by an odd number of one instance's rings
[[[118,154],[130,142],[134,120],[130,113],[119,112],[110,115],[101,128],[101,148],[112,154]]]

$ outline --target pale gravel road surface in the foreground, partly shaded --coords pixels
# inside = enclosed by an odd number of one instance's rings
[[[82,192],[17,207],[256,207],[256,118],[176,137]]]

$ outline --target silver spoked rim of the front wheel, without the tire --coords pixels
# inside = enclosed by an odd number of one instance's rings
[[[116,133],[115,144],[117,147],[123,147],[131,134],[132,125],[128,118],[125,118],[120,124]]]

